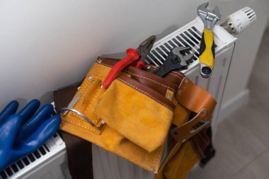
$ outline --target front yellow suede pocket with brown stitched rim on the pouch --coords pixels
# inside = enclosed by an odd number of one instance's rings
[[[175,105],[135,79],[120,76],[98,99],[93,113],[122,136],[151,152],[164,144]]]

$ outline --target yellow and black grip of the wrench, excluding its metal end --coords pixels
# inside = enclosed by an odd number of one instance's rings
[[[214,68],[214,34],[211,30],[204,29],[202,33],[199,62]]]

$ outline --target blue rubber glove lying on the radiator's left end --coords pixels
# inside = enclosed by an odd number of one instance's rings
[[[53,106],[39,106],[39,100],[32,100],[16,113],[13,100],[0,113],[0,171],[38,149],[59,128],[61,118],[52,116]]]

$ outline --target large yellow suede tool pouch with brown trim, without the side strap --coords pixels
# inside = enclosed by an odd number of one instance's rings
[[[157,173],[182,78],[163,79],[151,74],[154,69],[130,66],[105,89],[102,81],[117,62],[96,60],[62,109],[61,129]]]

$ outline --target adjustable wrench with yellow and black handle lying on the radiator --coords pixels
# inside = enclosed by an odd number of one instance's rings
[[[208,2],[201,4],[197,9],[198,15],[205,25],[199,50],[200,74],[204,78],[210,77],[214,68],[214,34],[212,29],[220,19],[219,8],[215,6],[213,11],[209,11],[208,4]]]

